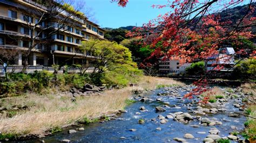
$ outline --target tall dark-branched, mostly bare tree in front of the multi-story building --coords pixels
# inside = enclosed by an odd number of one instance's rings
[[[51,39],[52,35],[67,31],[70,27],[77,27],[74,17],[85,19],[84,13],[79,11],[82,5],[75,9],[71,5],[72,2],[38,0],[31,2],[31,4],[35,8],[26,9],[29,15],[23,15],[23,20],[26,22],[23,26],[28,28],[28,37],[20,38],[29,42],[28,49],[23,55],[23,72],[28,67],[28,59],[32,52],[41,50],[42,44],[47,45],[49,42],[47,40]],[[18,7],[17,9],[24,11],[23,7]],[[36,23],[33,22],[33,18],[36,18]],[[16,40],[17,38],[13,39]]]

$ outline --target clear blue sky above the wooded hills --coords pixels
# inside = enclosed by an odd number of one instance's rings
[[[80,0],[86,7],[95,13],[97,24],[102,27],[118,28],[121,26],[142,26],[150,19],[156,18],[160,13],[164,14],[167,9],[153,9],[153,4],[166,4],[167,0],[130,0],[125,8],[111,3],[110,0]],[[85,11],[85,10],[82,10]]]

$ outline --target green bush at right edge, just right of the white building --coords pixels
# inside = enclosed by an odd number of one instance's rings
[[[232,71],[232,76],[238,79],[255,79],[256,75],[256,60],[255,59],[245,59],[235,65]]]

